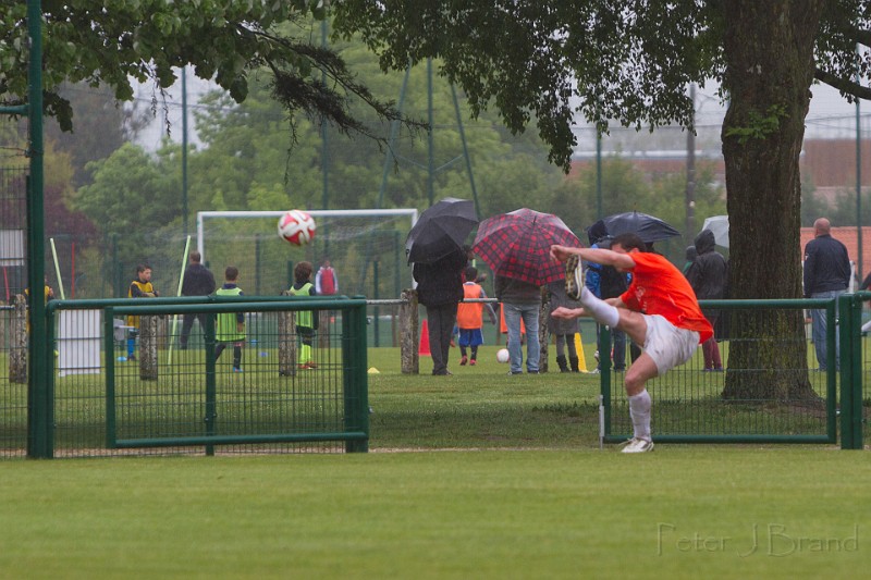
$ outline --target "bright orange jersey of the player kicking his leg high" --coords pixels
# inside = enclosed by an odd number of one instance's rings
[[[633,283],[619,299],[631,310],[660,314],[677,326],[699,333],[703,343],[714,331],[701,313],[696,293],[680,271],[659,254],[633,252]]]

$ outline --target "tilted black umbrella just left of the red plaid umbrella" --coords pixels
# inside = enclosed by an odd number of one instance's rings
[[[478,225],[475,203],[446,197],[424,210],[405,239],[408,263],[432,263],[463,247]]]

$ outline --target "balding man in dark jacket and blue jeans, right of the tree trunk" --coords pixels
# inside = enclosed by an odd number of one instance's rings
[[[847,292],[850,283],[850,259],[847,248],[832,237],[831,227],[825,218],[813,222],[814,238],[805,246],[805,298],[836,298]],[[827,369],[825,310],[811,310],[810,316],[817,362],[820,365],[820,370],[824,371]],[[835,332],[835,353],[838,351],[838,333]]]

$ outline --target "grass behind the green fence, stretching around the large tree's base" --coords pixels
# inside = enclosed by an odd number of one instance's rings
[[[588,365],[593,367],[592,345],[585,344]],[[507,375],[507,365],[495,361],[499,347],[481,348],[476,367],[457,363],[458,349],[452,349],[452,377],[429,374],[431,360],[420,359],[420,374],[402,374],[397,348],[370,348],[366,367],[369,381],[370,447],[409,448],[549,448],[598,447],[600,377],[586,373],[551,372],[540,375]],[[326,356],[326,355],[324,355]],[[701,357],[651,382],[654,397],[654,433],[658,435],[821,435],[826,432],[826,416],[819,409],[768,405],[768,402],[731,405],[720,394],[724,373],[701,371]],[[160,381],[142,381],[138,367],[121,363],[122,377],[116,411],[119,439],[148,436],[152,430],[176,435],[197,435],[204,429],[203,351],[175,355]],[[298,381],[277,381],[277,356],[261,348],[246,349],[246,372],[231,372],[224,360],[217,373],[220,433],[284,432],[289,421],[321,424],[328,431],[341,429],[342,399],[336,390],[321,396],[319,381],[338,377],[319,369]],[[338,360],[330,355],[327,360]],[[551,361],[553,355],[551,354]],[[198,362],[199,361],[199,362]],[[326,367],[329,367],[326,366]],[[333,362],[333,369],[335,363]],[[375,372],[377,369],[378,372]],[[333,372],[333,374],[331,374]],[[810,373],[813,386],[825,393],[825,375]],[[612,433],[630,430],[628,410],[622,394],[622,374],[614,374]],[[294,390],[292,409],[275,404],[283,400],[281,390]],[[54,447],[60,456],[102,454],[107,440],[106,386],[102,374],[73,374],[56,383]],[[0,453],[22,455],[26,444],[27,390],[15,385],[0,393]],[[291,412],[292,411],[292,412]],[[289,414],[291,412],[291,414]],[[834,411],[832,411],[834,412]],[[290,419],[289,419],[290,418]],[[328,423],[323,423],[328,424]],[[333,427],[333,424],[338,427]],[[831,419],[830,419],[831,424]],[[336,444],[341,448],[340,444]],[[250,449],[250,448],[247,448]],[[199,453],[201,448],[189,449]],[[220,449],[219,449],[220,451]],[[245,448],[243,448],[243,452]],[[127,453],[127,452],[124,452]],[[156,452],[159,453],[159,452]],[[180,451],[169,451],[169,454]]]

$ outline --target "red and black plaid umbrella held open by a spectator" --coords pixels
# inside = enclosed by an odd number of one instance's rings
[[[556,215],[523,208],[482,221],[473,251],[496,275],[543,286],[565,279],[564,266],[551,260],[553,244],[579,247],[580,240]]]

